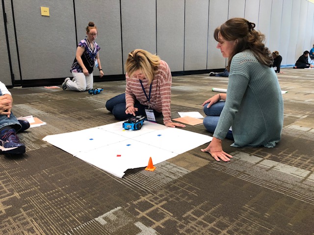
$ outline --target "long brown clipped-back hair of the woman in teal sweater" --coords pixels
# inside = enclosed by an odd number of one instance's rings
[[[272,67],[273,58],[271,52],[263,43],[265,36],[254,28],[255,24],[244,18],[232,18],[215,29],[214,39],[217,42],[219,32],[227,41],[237,39],[235,49],[228,59],[228,70],[230,70],[231,61],[235,54],[245,49],[251,50],[261,64]]]

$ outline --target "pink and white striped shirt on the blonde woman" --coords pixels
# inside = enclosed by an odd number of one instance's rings
[[[135,99],[137,99],[142,105],[148,106],[148,100],[143,92],[139,79],[130,78],[128,73],[126,73],[126,81],[126,108],[134,106]],[[157,112],[162,113],[164,124],[171,122],[171,82],[172,77],[170,68],[165,61],[160,60],[158,71],[152,82],[150,107],[155,109]],[[144,78],[142,80],[142,84],[147,96],[149,96],[150,85],[148,85],[148,79]]]

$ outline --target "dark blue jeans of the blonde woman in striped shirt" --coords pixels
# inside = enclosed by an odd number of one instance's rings
[[[140,104],[137,100],[135,100],[134,107],[138,109],[135,112],[135,115],[146,116],[145,109],[148,108],[146,105]],[[106,102],[106,109],[110,111],[113,116],[118,120],[126,120],[128,118],[133,117],[131,114],[126,114],[126,94],[119,94]],[[161,113],[154,110],[155,117],[159,117]]]

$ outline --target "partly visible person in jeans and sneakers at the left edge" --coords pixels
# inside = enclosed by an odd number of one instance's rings
[[[16,118],[11,112],[13,98],[11,93],[0,82],[0,150],[7,154],[25,153],[25,145],[20,142],[16,133],[29,128],[29,122]]]

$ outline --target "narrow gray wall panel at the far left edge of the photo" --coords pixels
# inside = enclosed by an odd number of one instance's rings
[[[0,81],[3,82],[5,85],[12,86],[11,81],[11,72],[10,72],[10,64],[9,64],[9,58],[8,58],[8,50],[7,50],[7,44],[5,39],[5,33],[4,33],[4,21],[3,21],[3,14],[2,14],[2,1],[0,1],[0,71],[1,71],[1,79]]]

